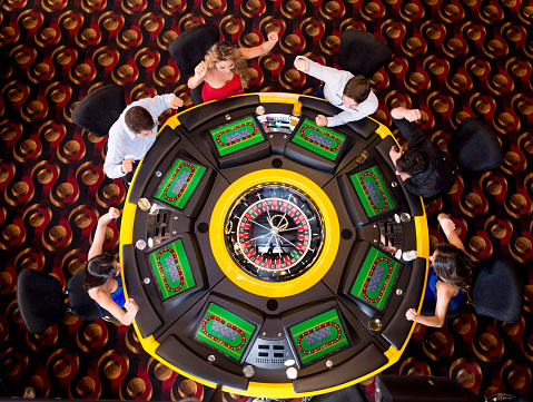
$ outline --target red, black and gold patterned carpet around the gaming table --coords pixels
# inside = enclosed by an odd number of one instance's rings
[[[2,2],[0,2],[2,4]],[[406,105],[423,110],[423,129],[442,149],[466,116],[486,121],[505,159],[494,170],[457,176],[430,209],[433,244],[440,210],[453,214],[481,265],[494,255],[516,261],[524,290],[521,321],[505,324],[472,312],[440,330],[417,326],[397,374],[448,376],[480,398],[527,395],[533,370],[533,3],[521,0],[6,0],[0,8],[0,396],[172,400],[211,390],[146,354],[132,327],[102,320],[27,332],[17,300],[21,269],[66,282],[87,258],[91,232],[120,180],[102,170],[106,139],[76,127],[77,102],[116,82],[131,100],[174,91],[187,104],[187,77],[168,45],[197,23],[214,22],[226,40],[248,47],[279,31],[270,55],[250,62],[249,91],[309,94],[316,82],[292,68],[297,55],[336,66],[340,33],[382,38],[393,60],[373,77],[374,117]],[[118,251],[111,225],[106,246]],[[373,400],[374,379],[364,383]],[[233,402],[239,395],[224,395]]]

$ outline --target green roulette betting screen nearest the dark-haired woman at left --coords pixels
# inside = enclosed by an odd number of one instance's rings
[[[196,285],[180,239],[151,253],[149,258],[162,300]]]

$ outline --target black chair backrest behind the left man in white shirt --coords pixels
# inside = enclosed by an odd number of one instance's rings
[[[72,121],[97,137],[109,134],[109,129],[126,109],[126,95],[118,85],[97,88],[80,100],[72,110]]]

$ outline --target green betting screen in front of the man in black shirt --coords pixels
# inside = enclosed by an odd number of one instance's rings
[[[368,217],[395,207],[376,166],[349,176]]]

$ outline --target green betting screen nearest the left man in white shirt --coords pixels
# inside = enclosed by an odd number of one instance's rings
[[[154,197],[182,209],[205,171],[203,166],[178,159]]]

